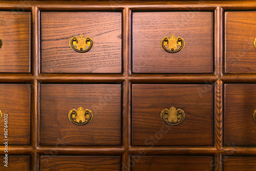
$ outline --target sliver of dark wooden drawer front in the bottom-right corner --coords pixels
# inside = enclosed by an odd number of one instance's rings
[[[224,156],[223,170],[224,171],[255,171],[256,157],[247,156]]]

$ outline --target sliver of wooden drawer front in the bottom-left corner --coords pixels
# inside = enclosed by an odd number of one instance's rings
[[[8,167],[4,166],[5,156],[0,156],[0,170],[30,170],[29,156],[8,156]]]

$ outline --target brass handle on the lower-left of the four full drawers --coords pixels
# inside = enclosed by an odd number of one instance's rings
[[[78,110],[73,109],[69,112],[69,120],[76,125],[84,125],[89,123],[93,118],[92,111],[89,109],[83,110],[82,107]]]

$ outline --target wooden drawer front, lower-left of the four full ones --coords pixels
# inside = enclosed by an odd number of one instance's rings
[[[80,107],[91,111],[91,122],[77,125],[69,119],[70,111]],[[84,112],[81,115],[77,112],[77,118],[83,116]],[[41,84],[40,144],[59,142],[64,145],[120,145],[121,85]]]

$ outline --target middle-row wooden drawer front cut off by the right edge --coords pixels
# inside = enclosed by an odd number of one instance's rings
[[[224,145],[256,145],[256,84],[225,84]]]

